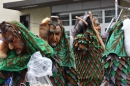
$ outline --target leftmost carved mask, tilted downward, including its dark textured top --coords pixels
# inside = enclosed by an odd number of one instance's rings
[[[4,41],[8,44],[9,49],[13,49],[17,54],[23,51],[24,43],[21,40],[20,31],[10,24],[3,23],[1,32],[4,36]]]

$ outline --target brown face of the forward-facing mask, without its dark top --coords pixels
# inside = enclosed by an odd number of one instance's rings
[[[60,39],[62,37],[61,27],[59,25],[57,26],[50,25],[49,28],[50,31],[49,31],[48,42],[52,47],[56,47],[59,44]]]

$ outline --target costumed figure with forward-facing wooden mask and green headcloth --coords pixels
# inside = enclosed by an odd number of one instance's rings
[[[49,30],[48,43],[55,53],[51,77],[53,86],[78,86],[74,54],[61,20],[57,16],[51,16],[50,21],[48,18],[43,21],[42,25],[47,25],[43,28],[49,27],[46,29],[46,31]]]

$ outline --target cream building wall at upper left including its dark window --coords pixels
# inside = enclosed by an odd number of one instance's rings
[[[10,6],[10,4],[17,2],[21,4],[24,0],[1,0],[0,3],[0,22],[1,21],[10,21],[16,20],[22,22],[31,32],[38,35],[39,34],[39,25],[43,18],[50,17],[51,9],[50,7],[40,7],[28,9],[24,7],[20,7],[21,10],[18,9],[9,9],[5,6]],[[17,8],[17,7],[16,7]]]

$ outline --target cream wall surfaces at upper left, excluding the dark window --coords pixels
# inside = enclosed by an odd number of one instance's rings
[[[21,15],[30,15],[30,31],[34,34],[39,34],[39,25],[45,17],[50,17],[51,9],[50,7],[34,8],[27,10],[11,10],[3,8],[3,3],[23,1],[23,0],[0,0],[0,22],[16,20],[20,21]]]

